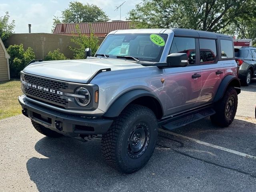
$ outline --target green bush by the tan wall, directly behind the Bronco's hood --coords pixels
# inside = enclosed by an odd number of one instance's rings
[[[73,35],[71,41],[79,45],[80,48],[70,47],[70,50],[74,52],[74,59],[85,59],[84,50],[89,47],[92,49],[92,55],[94,55],[99,48],[98,37],[94,36],[93,31],[90,34],[90,38],[84,34],[81,34],[78,25],[76,25],[76,32],[78,36]]]

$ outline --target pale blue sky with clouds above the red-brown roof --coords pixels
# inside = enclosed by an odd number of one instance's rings
[[[72,0],[0,0],[0,16],[9,12],[10,21],[15,20],[15,33],[28,33],[28,24],[32,24],[32,33],[51,33],[52,19],[61,16]],[[125,0],[78,0],[81,3],[95,4],[109,16],[110,20],[120,19],[120,10],[116,6]],[[141,0],[126,0],[121,7],[121,20],[126,20],[128,12]]]

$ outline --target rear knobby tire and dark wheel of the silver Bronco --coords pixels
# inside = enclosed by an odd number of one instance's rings
[[[238,104],[237,92],[234,87],[228,87],[223,98],[214,104],[216,114],[210,116],[213,124],[220,127],[229,126],[236,115]]]

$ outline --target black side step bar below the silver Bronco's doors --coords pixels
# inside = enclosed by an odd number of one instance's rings
[[[208,116],[214,115],[216,112],[212,108],[203,109],[201,111],[198,111],[194,114],[184,114],[180,117],[176,117],[173,119],[170,119],[166,124],[162,124],[159,122],[159,125],[162,125],[162,128],[167,130],[173,130],[179,127],[182,127],[184,125],[190,124],[192,122],[195,122],[197,120],[206,118]]]

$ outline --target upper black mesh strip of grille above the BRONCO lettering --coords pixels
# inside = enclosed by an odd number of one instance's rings
[[[23,78],[27,83],[31,83],[31,84],[42,86],[42,87],[47,87],[50,89],[65,90],[66,88],[68,88],[68,85],[64,82],[58,82],[58,81],[31,76],[27,74],[24,74]]]

